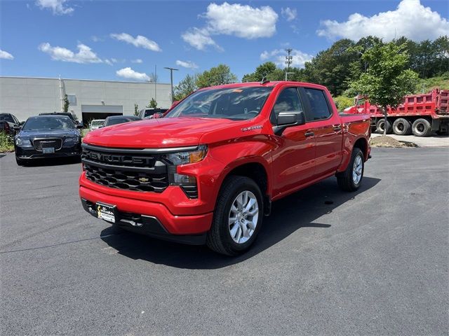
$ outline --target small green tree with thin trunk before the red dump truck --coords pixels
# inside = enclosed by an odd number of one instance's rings
[[[351,86],[359,93],[367,94],[371,104],[380,106],[384,125],[387,125],[387,106],[401,104],[403,97],[415,89],[418,75],[406,69],[408,53],[405,44],[378,43],[366,50],[362,59],[368,63],[368,69]],[[386,134],[387,127],[384,127]]]

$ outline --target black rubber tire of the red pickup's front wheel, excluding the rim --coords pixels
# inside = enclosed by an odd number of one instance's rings
[[[229,212],[236,197],[244,192],[250,191],[257,199],[258,217],[257,225],[248,241],[238,244],[229,233]],[[248,248],[255,241],[260,227],[262,226],[263,218],[263,197],[259,186],[252,179],[244,176],[229,176],[223,182],[220,194],[218,195],[217,204],[215,206],[212,227],[210,228],[206,244],[213,251],[225,255],[239,255]]]

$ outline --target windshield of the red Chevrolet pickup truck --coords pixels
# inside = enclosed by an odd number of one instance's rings
[[[227,118],[246,120],[257,116],[272,87],[232,87],[203,90],[177,104],[164,118]]]

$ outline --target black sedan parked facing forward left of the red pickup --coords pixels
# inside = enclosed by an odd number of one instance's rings
[[[81,155],[81,125],[66,116],[29,117],[14,137],[15,160],[23,165],[37,158]]]

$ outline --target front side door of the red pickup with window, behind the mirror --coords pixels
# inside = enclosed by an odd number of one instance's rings
[[[276,98],[270,120],[276,123],[281,112],[304,111],[297,87],[283,89]],[[287,127],[280,136],[274,135],[277,148],[272,153],[274,193],[295,189],[310,181],[314,175],[315,141],[309,134],[310,125]]]

